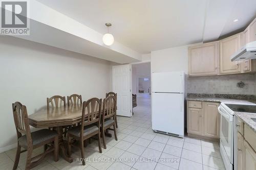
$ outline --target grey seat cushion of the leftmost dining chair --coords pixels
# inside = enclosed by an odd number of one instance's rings
[[[49,129],[41,129],[35,132],[31,132],[32,145],[39,144],[48,139],[54,138],[55,136],[58,136],[58,133],[56,131],[51,131]],[[26,148],[27,135],[23,135],[22,137],[18,138],[18,142],[20,145]]]

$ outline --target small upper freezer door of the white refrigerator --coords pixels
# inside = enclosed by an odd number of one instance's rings
[[[153,72],[152,92],[184,93],[184,72]]]

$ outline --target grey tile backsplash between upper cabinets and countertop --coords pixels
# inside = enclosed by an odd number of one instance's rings
[[[245,87],[237,86],[243,81]],[[205,94],[256,94],[256,74],[239,74],[207,77],[188,77],[188,93]]]

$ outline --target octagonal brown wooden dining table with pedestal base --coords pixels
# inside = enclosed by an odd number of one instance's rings
[[[102,109],[101,109],[102,110]],[[102,113],[102,112],[101,112]],[[63,137],[63,128],[81,122],[82,105],[42,108],[28,116],[29,125],[35,128],[53,128],[59,135],[60,155],[68,162],[73,158],[67,154],[67,141]],[[111,134],[108,134],[111,136]]]

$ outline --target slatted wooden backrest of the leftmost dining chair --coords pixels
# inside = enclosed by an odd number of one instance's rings
[[[14,118],[14,124],[17,132],[17,137],[19,138],[23,134],[27,135],[28,144],[32,144],[26,106],[22,105],[19,102],[15,102],[12,104],[12,112],[13,112],[13,118]]]

